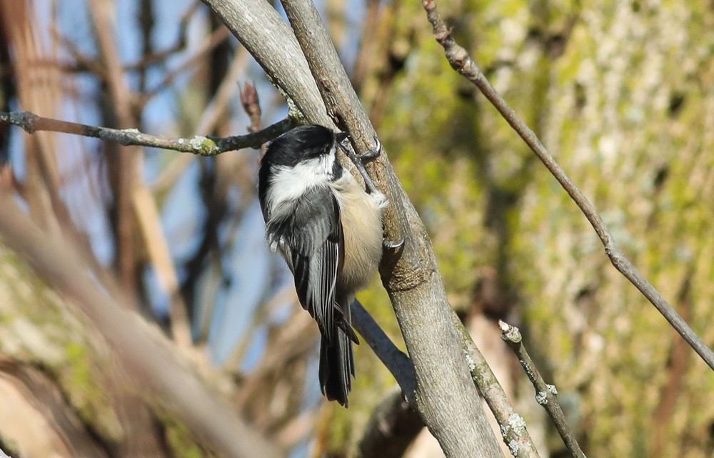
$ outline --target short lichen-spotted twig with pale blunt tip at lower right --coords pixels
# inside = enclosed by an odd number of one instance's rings
[[[560,437],[563,438],[563,442],[565,442],[565,447],[568,447],[573,457],[585,458],[583,450],[580,449],[578,441],[575,440],[575,434],[573,434],[570,426],[568,426],[567,420],[565,420],[563,410],[560,409],[558,398],[555,397],[555,395],[558,394],[558,390],[555,389],[555,385],[546,384],[543,377],[540,377],[540,372],[538,372],[535,364],[533,364],[533,359],[528,356],[526,347],[523,347],[521,331],[519,331],[517,327],[511,326],[501,320],[498,320],[498,326],[501,327],[501,339],[506,341],[508,347],[511,347],[513,352],[516,353],[518,362],[521,362],[523,370],[526,371],[528,379],[531,380],[535,388],[535,401],[543,406],[545,412],[548,412],[548,416],[550,420],[553,421],[555,429],[558,429],[558,434],[560,434]]]

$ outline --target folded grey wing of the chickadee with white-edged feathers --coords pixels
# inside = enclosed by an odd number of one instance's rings
[[[268,221],[267,232],[268,243],[286,248],[300,304],[318,323],[323,337],[333,342],[336,324],[344,326],[335,302],[344,242],[340,206],[332,191],[308,190],[295,202],[291,214],[281,221]]]

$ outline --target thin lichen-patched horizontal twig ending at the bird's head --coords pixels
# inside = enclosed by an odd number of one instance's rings
[[[217,156],[226,151],[243,148],[258,149],[266,141],[283,134],[295,126],[291,118],[283,119],[254,134],[226,136],[223,138],[196,135],[191,139],[168,139],[164,136],[144,134],[137,129],[110,129],[109,127],[89,126],[76,122],[44,118],[29,111],[0,111],[0,124],[13,124],[29,134],[36,131],[64,132],[89,136],[96,139],[115,141],[124,146],[149,146],[151,148],[171,149],[180,153],[198,156]]]

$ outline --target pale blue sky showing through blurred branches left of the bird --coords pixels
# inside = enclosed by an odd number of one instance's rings
[[[64,0],[52,2],[50,0],[36,0],[35,6],[39,19],[44,24],[51,23],[51,7],[56,7],[56,17],[58,29],[66,39],[69,39],[76,49],[86,56],[96,56],[94,49],[94,32],[91,30],[91,18],[89,6],[84,0]],[[116,44],[124,64],[128,65],[139,61],[141,58],[140,31],[137,29],[136,11],[139,5],[138,0],[118,0],[114,2],[116,6]],[[169,49],[176,43],[179,31],[179,22],[183,14],[193,5],[189,0],[156,0],[156,24],[152,39],[154,49]],[[318,2],[318,8],[323,8],[323,3]],[[359,24],[361,15],[364,12],[363,3],[351,2],[351,7],[347,9],[348,24]],[[172,56],[166,61],[164,68],[155,68],[148,72],[147,86],[152,88],[159,84],[164,72],[170,71],[180,66],[183,61],[198,49],[198,46],[206,38],[206,14],[207,9],[201,5],[191,21],[188,23],[186,51]],[[324,16],[324,14],[323,14]],[[356,37],[358,28],[352,27],[350,34]],[[50,43],[51,35],[48,28],[41,28],[46,43]],[[233,39],[231,37],[231,39]],[[234,40],[234,39],[233,39]],[[356,54],[356,39],[346,40],[346,49],[342,50],[347,61],[352,61]],[[60,51],[61,60],[71,61],[71,54]],[[348,65],[348,68],[350,65]],[[161,91],[152,99],[144,110],[141,130],[151,134],[163,134],[166,136],[176,136],[177,126],[174,125],[176,114],[180,107],[179,100],[183,95],[191,78],[191,71],[185,71],[176,79],[171,88]],[[138,87],[138,77],[136,74],[127,74],[129,86],[136,89]],[[281,102],[279,105],[268,103],[277,100],[276,91],[263,78],[260,67],[251,59],[251,64],[246,68],[246,73],[236,81],[236,84],[244,84],[246,81],[256,82],[258,94],[261,96],[263,105],[263,123],[268,124],[278,121],[286,114],[286,106]],[[80,97],[68,98],[64,102],[62,116],[64,119],[79,121],[86,124],[99,124],[100,114],[96,109],[94,94],[99,90],[96,79],[91,75],[79,75],[71,77],[71,84]],[[237,94],[234,96],[233,113],[231,119],[233,131],[236,134],[246,132],[248,126],[247,116],[240,107]],[[200,112],[203,107],[197,107]],[[193,132],[191,134],[205,134],[204,132]],[[18,149],[21,149],[21,136],[15,136]],[[76,222],[81,224],[89,234],[91,244],[96,257],[103,264],[111,263],[114,257],[114,247],[111,244],[111,237],[108,221],[106,221],[102,205],[106,204],[106,199],[111,199],[111,194],[107,189],[102,189],[96,180],[91,179],[91,174],[76,174],[78,164],[97,165],[97,155],[95,151],[99,149],[99,141],[95,139],[79,139],[76,137],[62,136],[59,154],[62,155],[60,163],[63,164],[61,174],[76,176],[76,179],[66,180],[63,189],[64,199],[68,202]],[[175,158],[173,152],[156,151],[146,149],[144,160],[144,179],[151,187],[152,183],[159,176],[168,161]],[[255,151],[233,151],[227,154],[250,154],[256,156]],[[88,159],[89,158],[89,159]],[[21,156],[15,155],[13,161],[16,165],[19,176],[24,170]],[[92,171],[92,169],[90,169]],[[99,169],[94,169],[94,173],[99,173]],[[178,262],[191,256],[196,249],[201,235],[202,221],[205,216],[201,196],[198,194],[198,174],[199,168],[196,160],[188,166],[183,175],[176,181],[176,184],[161,200],[161,219],[166,233],[166,238],[171,247],[171,254]],[[93,199],[88,199],[92,196]],[[211,350],[211,358],[216,364],[221,364],[231,355],[236,344],[246,336],[246,332],[251,328],[253,315],[258,306],[266,299],[266,289],[281,289],[290,287],[292,280],[281,259],[277,259],[271,254],[263,240],[263,220],[254,196],[241,196],[237,191],[232,194],[231,204],[235,207],[246,208],[245,214],[240,223],[236,226],[226,226],[221,228],[221,239],[223,241],[233,241],[228,243],[231,247],[226,253],[221,253],[219,260],[222,267],[221,274],[224,282],[223,287],[216,292],[216,277],[204,275],[199,282],[199,290],[196,294],[198,298],[199,313],[194,322],[194,330],[198,332],[203,326],[210,329],[208,334],[208,344]],[[250,201],[243,201],[250,199]],[[230,199],[229,199],[230,200]],[[89,205],[88,205],[89,202]],[[240,204],[240,205],[239,205]],[[247,204],[247,205],[246,205]],[[235,231],[235,233],[231,233]],[[278,278],[278,283],[271,285],[271,281]],[[179,275],[183,274],[179,270]],[[168,304],[165,292],[161,291],[153,270],[149,267],[144,272],[144,279],[149,290],[149,300],[158,314],[164,314]],[[289,302],[277,307],[276,314],[272,317],[273,322],[280,322],[288,316]],[[241,367],[249,369],[255,364],[263,351],[266,342],[266,332],[264,329],[258,330],[253,335],[253,341],[248,346]]]

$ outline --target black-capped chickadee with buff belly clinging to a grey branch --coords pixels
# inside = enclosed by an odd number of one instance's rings
[[[352,343],[358,343],[350,305],[376,273],[387,206],[366,174],[368,192],[337,161],[346,137],[298,126],[268,146],[258,172],[266,239],[285,258],[298,300],[320,329],[322,392],[344,407],[355,375]],[[363,158],[380,149],[377,144]]]

